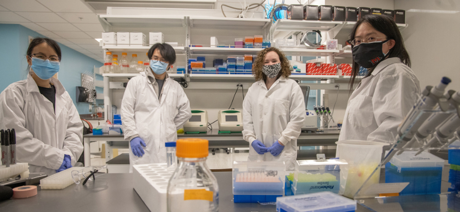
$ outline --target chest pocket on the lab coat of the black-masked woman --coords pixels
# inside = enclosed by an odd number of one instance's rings
[[[352,125],[365,128],[372,124],[374,109],[371,96],[357,95],[350,101],[348,107],[351,107],[348,120]]]

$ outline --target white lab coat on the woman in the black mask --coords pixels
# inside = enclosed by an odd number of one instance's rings
[[[380,62],[348,100],[339,141],[395,141],[398,125],[413,107],[420,85],[399,58]]]

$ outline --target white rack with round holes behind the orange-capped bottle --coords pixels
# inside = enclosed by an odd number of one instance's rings
[[[132,166],[133,188],[152,212],[166,212],[168,181],[174,169],[165,164]]]

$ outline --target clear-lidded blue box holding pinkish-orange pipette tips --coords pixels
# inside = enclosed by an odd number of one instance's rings
[[[233,162],[234,202],[274,202],[284,194],[284,162]]]

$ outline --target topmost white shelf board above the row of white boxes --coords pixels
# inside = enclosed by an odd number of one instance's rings
[[[181,28],[187,26],[186,16],[155,16],[155,15],[98,15],[103,28],[110,27],[168,27]],[[106,30],[107,32],[107,30]]]

